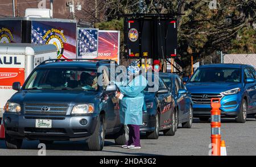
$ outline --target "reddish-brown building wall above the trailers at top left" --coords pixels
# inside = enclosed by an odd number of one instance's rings
[[[16,0],[18,2],[18,15],[24,16],[27,8],[38,8],[41,0]],[[46,2],[46,8],[49,9],[49,0]],[[75,10],[75,15],[69,12],[67,1],[82,6],[82,10]],[[100,22],[105,20],[105,12],[102,11],[103,0],[53,0],[53,18],[77,19],[82,22]],[[42,4],[42,3],[41,3]],[[97,8],[96,8],[97,6]],[[96,14],[97,11],[97,14]],[[1,0],[0,17],[13,16],[13,0]]]

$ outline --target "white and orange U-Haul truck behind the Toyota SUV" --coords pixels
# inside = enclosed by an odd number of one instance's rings
[[[23,85],[32,70],[47,59],[57,59],[53,44],[0,44],[0,122],[5,103],[16,92],[13,82]]]

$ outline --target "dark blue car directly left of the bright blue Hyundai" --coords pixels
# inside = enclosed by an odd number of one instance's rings
[[[159,73],[159,76],[166,82],[175,101],[176,128],[181,123],[184,128],[191,128],[193,121],[193,108],[191,94],[177,74]]]

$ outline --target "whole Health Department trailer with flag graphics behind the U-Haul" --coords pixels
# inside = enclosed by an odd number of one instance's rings
[[[57,59],[76,58],[77,20],[0,18],[0,43],[53,44]]]

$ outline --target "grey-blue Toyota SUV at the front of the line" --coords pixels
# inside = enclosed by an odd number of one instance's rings
[[[87,140],[90,150],[104,147],[105,135],[115,144],[125,144],[125,131],[119,120],[119,100],[108,73],[97,69],[106,60],[49,60],[37,66],[20,89],[6,103],[5,141],[18,149],[23,139],[53,143],[55,140]],[[97,78],[102,77],[102,86]]]

